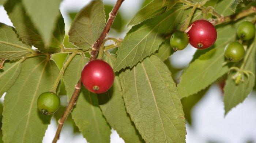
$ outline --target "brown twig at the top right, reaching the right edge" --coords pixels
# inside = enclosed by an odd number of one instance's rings
[[[214,21],[214,25],[230,22],[230,21],[236,21],[238,19],[241,19],[242,17],[251,15],[252,13],[256,13],[256,7],[251,7],[249,9],[245,9],[244,11],[234,14],[234,15],[229,15],[225,16],[223,18],[217,19]]]

